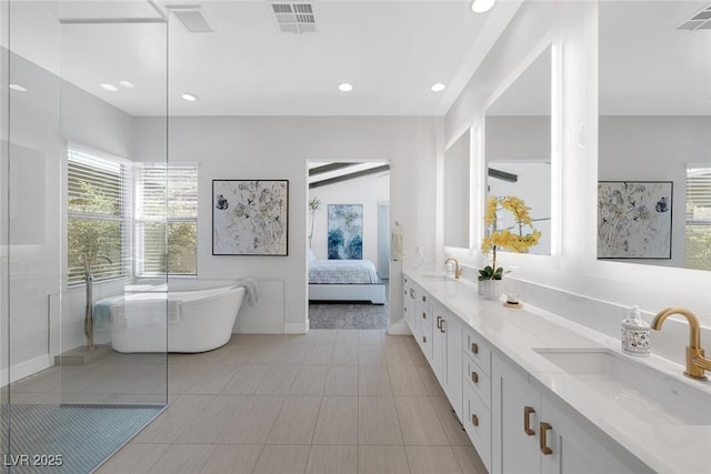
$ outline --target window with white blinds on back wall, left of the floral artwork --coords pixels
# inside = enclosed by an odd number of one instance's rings
[[[137,272],[197,274],[198,167],[138,164],[136,204]]]

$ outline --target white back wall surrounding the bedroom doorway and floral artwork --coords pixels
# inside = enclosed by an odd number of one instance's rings
[[[287,332],[307,330],[309,160],[390,161],[391,221],[401,223],[409,252],[419,248],[422,256],[431,260],[437,122],[432,118],[382,117],[172,118],[170,160],[199,162],[199,278],[252,276],[260,282],[283,282],[283,314],[263,313],[262,322],[271,327],[281,320]],[[150,137],[161,125],[160,120],[137,119],[137,160],[154,154],[157,144]],[[288,256],[211,254],[213,179],[289,180]],[[391,279],[395,285],[401,284],[398,268],[392,269]],[[272,291],[279,291],[277,284]],[[397,322],[402,319],[399,286],[391,295],[391,320]],[[242,325],[242,331],[251,329]]]

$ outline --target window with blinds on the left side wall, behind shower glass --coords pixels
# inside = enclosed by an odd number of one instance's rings
[[[128,225],[124,167],[98,153],[68,150],[68,282],[84,281],[86,265],[94,280],[127,272]]]

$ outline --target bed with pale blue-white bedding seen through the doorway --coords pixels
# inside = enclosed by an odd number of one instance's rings
[[[385,285],[370,260],[318,260],[309,252],[309,300],[385,304]]]

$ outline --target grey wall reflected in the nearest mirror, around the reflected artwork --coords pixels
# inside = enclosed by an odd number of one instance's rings
[[[639,260],[684,266],[687,164],[711,164],[711,118],[600,118],[601,181],[673,181],[671,260]]]

